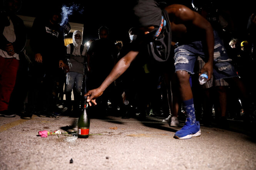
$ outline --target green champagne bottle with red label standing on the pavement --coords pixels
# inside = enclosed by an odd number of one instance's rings
[[[82,111],[81,116],[78,118],[78,137],[79,138],[87,138],[89,137],[90,130],[90,119],[86,112],[87,102],[86,99],[84,101],[84,109]]]

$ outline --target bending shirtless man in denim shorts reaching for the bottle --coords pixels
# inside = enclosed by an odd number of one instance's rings
[[[177,42],[174,49],[174,65],[182,104],[187,112],[184,127],[178,130],[174,137],[190,139],[200,136],[200,125],[196,120],[193,95],[189,83],[190,74],[194,74],[194,63],[197,57],[200,55],[206,63],[199,75],[207,71],[208,80],[211,79],[212,74],[215,75],[216,79],[237,76],[233,72],[232,66],[226,65],[228,67],[221,71],[223,62],[215,63],[213,68],[214,60],[221,60],[221,55],[214,56],[215,48],[218,48],[218,53],[223,52],[219,41],[214,41],[214,38],[217,38],[216,32],[199,13],[180,4],[172,4],[161,9],[154,0],[139,0],[134,7],[134,14],[136,21],[138,21],[137,26],[142,31],[140,45],[135,46],[118,61],[109,76],[97,89],[90,90],[85,94],[87,102],[90,106],[97,104],[95,98],[102,95],[107,86],[129,68],[143,46],[147,48],[155,63],[165,62],[170,56],[171,41],[174,41]]]

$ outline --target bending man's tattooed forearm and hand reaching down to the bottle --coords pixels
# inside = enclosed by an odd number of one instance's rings
[[[129,53],[127,53],[115,64],[114,68],[100,85],[100,87],[98,87],[97,89],[92,89],[84,95],[87,96],[87,102],[89,106],[92,106],[90,102],[92,102],[94,105],[97,104],[95,102],[95,99],[101,96],[105,89],[129,68],[130,64],[136,58],[138,53],[138,51],[130,51]]]

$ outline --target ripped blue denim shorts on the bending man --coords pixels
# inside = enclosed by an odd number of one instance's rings
[[[194,74],[194,65],[197,57],[200,56],[204,62],[208,61],[207,45],[202,41],[194,41],[189,43],[176,43],[174,49],[174,65],[175,71],[187,71]],[[231,78],[238,76],[234,66],[231,64],[232,59],[228,57],[226,49],[218,33],[214,31],[214,62],[213,77],[214,79]]]

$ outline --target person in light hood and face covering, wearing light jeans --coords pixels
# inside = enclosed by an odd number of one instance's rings
[[[70,58],[67,59],[70,71],[66,76],[66,102],[68,112],[72,110],[71,92],[74,88],[74,106],[73,111],[78,111],[80,106],[80,96],[82,91],[82,83],[84,77],[84,64],[87,48],[82,45],[82,32],[79,30],[73,33],[73,43],[67,45],[67,53]]]

